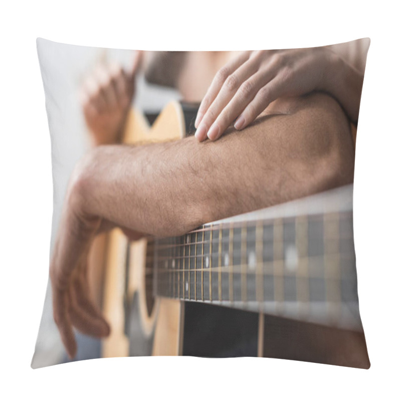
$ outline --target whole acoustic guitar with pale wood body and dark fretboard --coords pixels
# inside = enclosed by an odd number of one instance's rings
[[[196,105],[152,125],[132,109],[124,143],[193,133]],[[359,318],[352,185],[129,242],[108,235],[104,357],[265,356],[368,368]]]

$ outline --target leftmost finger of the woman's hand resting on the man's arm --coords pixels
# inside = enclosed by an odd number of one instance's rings
[[[198,112],[195,119],[195,128],[198,127],[200,121],[203,119],[206,111],[209,109],[216,96],[219,94],[223,84],[226,79],[236,71],[242,64],[244,64],[248,59],[251,52],[242,52],[238,57],[230,61],[225,67],[219,70],[215,78],[212,81],[206,95],[204,96],[202,102],[200,103]]]

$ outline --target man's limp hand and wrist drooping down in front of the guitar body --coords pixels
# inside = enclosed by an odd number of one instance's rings
[[[93,160],[89,156],[90,160]],[[60,222],[50,279],[53,295],[53,316],[62,342],[70,358],[77,351],[73,327],[86,335],[106,337],[110,327],[96,306],[88,282],[88,254],[95,236],[117,225],[87,212],[83,193],[85,161],[78,163],[70,180]],[[86,178],[85,178],[86,179]],[[143,235],[120,225],[131,241]]]

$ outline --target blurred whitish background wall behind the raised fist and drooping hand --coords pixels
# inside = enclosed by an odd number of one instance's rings
[[[128,68],[134,53],[129,50],[64,45],[44,39],[38,39],[37,49],[46,88],[46,110],[52,138],[52,254],[69,176],[76,162],[90,146],[79,101],[80,87],[98,63],[115,61]],[[176,91],[150,85],[142,74],[137,76],[133,104],[143,112],[160,111],[170,100],[179,98]],[[47,132],[43,134],[48,135]],[[76,335],[80,346],[75,360],[100,356],[99,340],[78,332]],[[64,361],[67,361],[66,354],[53,320],[51,288],[48,283],[32,367],[49,366]]]

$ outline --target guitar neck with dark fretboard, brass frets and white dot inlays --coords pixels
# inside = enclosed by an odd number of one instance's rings
[[[147,263],[157,296],[335,325],[358,307],[352,210],[205,225],[155,240]]]

